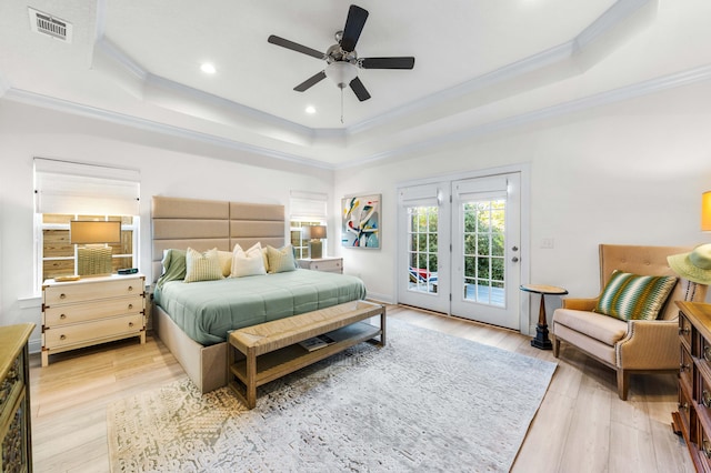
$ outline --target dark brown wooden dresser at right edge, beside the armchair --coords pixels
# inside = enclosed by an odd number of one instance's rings
[[[679,411],[672,425],[683,435],[697,471],[711,472],[711,304],[680,302]]]

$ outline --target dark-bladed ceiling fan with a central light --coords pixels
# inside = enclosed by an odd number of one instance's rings
[[[326,69],[304,80],[293,90],[303,92],[328,77],[339,89],[350,87],[358,100],[362,102],[370,99],[370,93],[368,93],[368,90],[358,78],[358,69],[412,69],[414,67],[414,58],[412,57],[358,57],[356,43],[358,43],[367,19],[368,10],[351,4],[343,30],[336,33],[337,43],[331,46],[324,53],[274,34],[270,36],[268,41],[272,44],[322,59],[327,62]]]

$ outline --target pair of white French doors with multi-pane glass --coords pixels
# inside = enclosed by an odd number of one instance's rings
[[[398,301],[520,330],[520,173],[399,189]]]

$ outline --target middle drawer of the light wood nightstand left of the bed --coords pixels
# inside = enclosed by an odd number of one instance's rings
[[[44,328],[86,322],[121,314],[143,311],[143,295],[136,294],[118,299],[104,299],[92,303],[54,305],[44,310]]]

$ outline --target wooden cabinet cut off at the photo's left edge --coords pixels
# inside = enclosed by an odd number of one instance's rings
[[[0,326],[0,472],[32,471],[30,371],[33,323]]]

